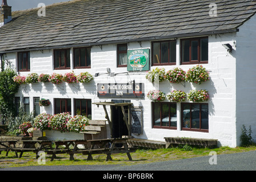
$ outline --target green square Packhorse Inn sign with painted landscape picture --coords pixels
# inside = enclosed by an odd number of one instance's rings
[[[149,49],[127,50],[127,71],[149,71]]]

